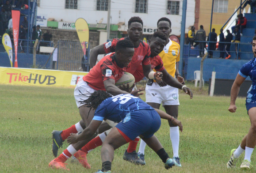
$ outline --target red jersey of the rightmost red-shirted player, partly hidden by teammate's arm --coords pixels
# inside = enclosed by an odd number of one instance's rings
[[[156,71],[163,71],[165,69],[164,63],[159,55],[153,58],[150,57],[150,63],[151,63],[152,70],[155,69]],[[135,78],[135,83],[141,81],[145,77],[142,66],[138,67],[133,75]]]

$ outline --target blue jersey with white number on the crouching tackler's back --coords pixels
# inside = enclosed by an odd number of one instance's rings
[[[129,113],[141,109],[153,109],[143,100],[131,94],[119,94],[115,97],[107,98],[96,109],[92,120],[108,119],[121,122],[125,118],[129,118]]]

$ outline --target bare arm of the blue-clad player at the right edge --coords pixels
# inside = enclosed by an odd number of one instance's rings
[[[232,85],[231,88],[231,94],[230,94],[230,105],[229,105],[229,112],[234,113],[236,112],[237,106],[236,106],[236,99],[237,95],[239,93],[240,87],[242,83],[245,81],[245,77],[241,76],[239,73],[237,74],[237,77]]]

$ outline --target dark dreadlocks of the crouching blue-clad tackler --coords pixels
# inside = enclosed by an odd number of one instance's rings
[[[79,92],[81,93],[80,90],[79,90]],[[111,94],[109,94],[109,93],[107,93],[106,91],[103,91],[103,90],[97,90],[97,91],[94,91],[93,93],[89,93],[89,94],[81,93],[79,95],[84,95],[84,96],[87,96],[87,97],[88,97],[88,95],[90,95],[90,97],[87,100],[79,101],[80,104],[87,105],[85,107],[90,108],[89,113],[90,113],[92,108],[96,109],[100,105],[101,102],[103,102],[107,98],[112,97]],[[88,116],[89,116],[89,113],[88,113]]]

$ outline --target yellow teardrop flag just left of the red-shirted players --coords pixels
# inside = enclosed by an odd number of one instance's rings
[[[76,26],[76,32],[77,32],[78,38],[80,40],[80,43],[82,45],[84,55],[85,55],[86,48],[88,48],[88,42],[89,42],[88,23],[83,18],[79,18],[79,19],[76,19],[75,26]],[[86,48],[85,48],[85,45],[86,45]]]

